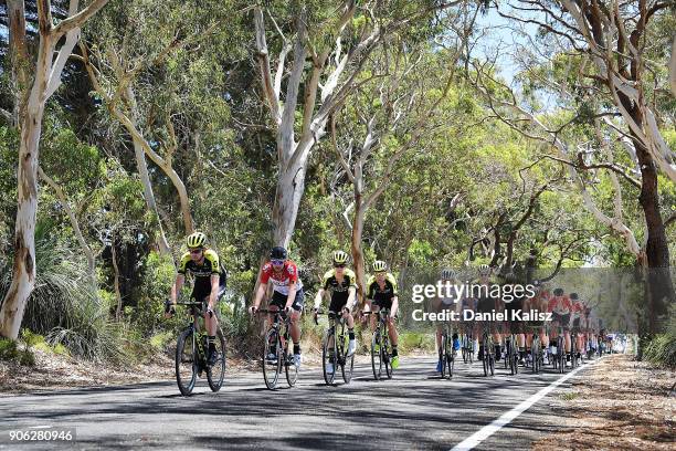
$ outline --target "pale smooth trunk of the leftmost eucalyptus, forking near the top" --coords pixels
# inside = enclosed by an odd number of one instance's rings
[[[95,14],[108,0],[94,0],[81,12],[77,0],[71,0],[70,17],[54,27],[51,2],[38,1],[40,43],[35,62],[35,76],[30,87],[27,107],[20,111],[18,209],[14,230],[14,265],[12,283],[0,308],[0,335],[17,339],[23,312],[35,286],[35,214],[38,210],[38,166],[42,117],[49,95],[61,84],[64,59],[71,54],[72,39],[62,45],[56,59],[54,50],[64,34],[78,33],[80,27]]]

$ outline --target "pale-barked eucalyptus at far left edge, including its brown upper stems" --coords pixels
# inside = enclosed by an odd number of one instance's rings
[[[80,28],[108,0],[94,0],[80,10],[80,2],[71,0],[68,17],[54,23],[49,0],[38,1],[39,44],[34,65],[30,63],[25,42],[23,2],[8,8],[12,38],[12,59],[15,62],[19,102],[18,209],[14,230],[14,264],[12,283],[0,308],[0,335],[15,339],[23,311],[35,284],[35,214],[38,208],[38,166],[42,117],[47,99],[61,85],[63,67],[80,38]],[[64,40],[65,38],[65,40]],[[59,51],[56,46],[62,42]]]

